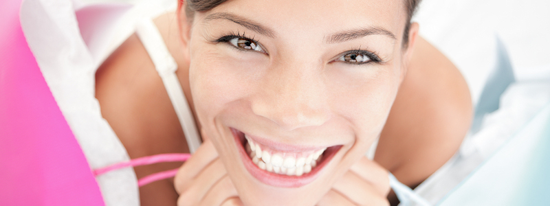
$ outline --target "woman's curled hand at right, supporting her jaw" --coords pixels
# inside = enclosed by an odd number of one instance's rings
[[[388,170],[362,157],[318,203],[323,205],[390,205]]]

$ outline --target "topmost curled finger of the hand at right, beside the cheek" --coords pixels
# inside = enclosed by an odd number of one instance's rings
[[[350,170],[369,181],[380,194],[386,196],[390,192],[389,172],[375,161],[362,157],[360,161],[351,165]]]

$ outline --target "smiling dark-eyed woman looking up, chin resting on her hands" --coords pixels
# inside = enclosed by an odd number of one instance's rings
[[[140,188],[142,205],[385,205],[387,171],[421,183],[461,144],[472,106],[410,23],[417,3],[188,1],[155,19],[203,145],[174,183]],[[148,55],[134,35],[98,69],[102,115],[131,158],[187,152]]]

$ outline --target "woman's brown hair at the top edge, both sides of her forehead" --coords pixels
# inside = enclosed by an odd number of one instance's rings
[[[210,10],[217,5],[220,5],[221,3],[227,1],[227,0],[179,0],[179,1],[186,1],[185,2],[185,12],[187,19],[189,21],[192,21],[193,16],[195,15],[195,12],[205,12],[207,10]],[[408,46],[408,32],[410,30],[410,19],[412,18],[412,15],[415,14],[415,11],[418,7],[418,4],[421,0],[404,0],[405,1],[405,10],[407,12],[407,23],[405,25],[404,33],[403,33],[403,46]]]

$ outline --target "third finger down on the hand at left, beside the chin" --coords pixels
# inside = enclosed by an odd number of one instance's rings
[[[214,185],[214,187],[212,187],[210,191],[208,191],[208,194],[204,196],[200,205],[217,206],[221,205],[221,203],[223,203],[226,199],[237,196],[238,194],[231,179],[229,176],[225,175],[216,183],[216,185]]]

